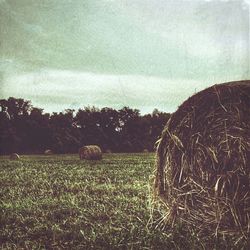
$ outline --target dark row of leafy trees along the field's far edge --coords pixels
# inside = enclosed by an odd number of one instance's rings
[[[141,115],[138,109],[84,107],[75,111],[44,113],[30,101],[0,100],[0,154],[76,153],[84,145],[99,145],[105,152],[153,151],[170,117],[155,109]]]

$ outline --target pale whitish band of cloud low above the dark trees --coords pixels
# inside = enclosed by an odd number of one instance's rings
[[[2,97],[30,99],[34,105],[50,112],[88,105],[130,106],[143,113],[154,108],[172,112],[195,91],[209,85],[208,82],[140,75],[43,70],[7,77]]]

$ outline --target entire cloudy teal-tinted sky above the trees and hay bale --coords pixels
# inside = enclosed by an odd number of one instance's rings
[[[174,112],[250,78],[250,0],[0,0],[0,98]]]

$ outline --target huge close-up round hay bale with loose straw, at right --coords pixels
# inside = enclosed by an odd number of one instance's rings
[[[157,149],[155,191],[201,232],[250,231],[250,81],[214,85],[172,114]]]

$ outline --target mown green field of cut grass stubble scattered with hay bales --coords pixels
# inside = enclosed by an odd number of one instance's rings
[[[222,249],[154,210],[154,154],[0,158],[2,249]],[[207,248],[209,246],[209,248]]]

